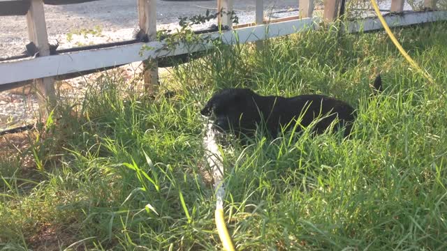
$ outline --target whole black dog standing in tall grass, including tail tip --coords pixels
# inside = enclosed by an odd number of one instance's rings
[[[374,81],[374,93],[382,90],[381,77]],[[318,119],[314,132],[323,133],[338,118],[336,128],[345,127],[345,137],[351,133],[356,119],[355,109],[342,100],[323,95],[301,95],[293,98],[259,96],[250,89],[224,89],[215,93],[200,111],[204,116],[214,115],[214,128],[233,130],[237,136],[251,136],[256,126],[263,125],[276,136],[281,126],[300,119],[303,127]],[[295,126],[293,123],[288,128]],[[298,126],[296,131],[302,128]]]

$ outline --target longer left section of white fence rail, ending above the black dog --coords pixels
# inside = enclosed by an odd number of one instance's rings
[[[312,19],[307,18],[270,24],[268,36],[273,38],[304,29],[312,29],[312,23]],[[219,38],[221,36],[221,39],[228,44],[235,44],[237,40],[239,40],[239,43],[249,43],[265,37],[265,25],[237,29],[234,32],[226,31],[221,34],[212,33],[203,36],[211,36],[212,38]],[[101,69],[108,66],[144,61],[149,58],[156,59],[159,56],[173,56],[188,52],[198,52],[212,46],[210,44],[178,45],[173,51],[157,52],[163,49],[163,43],[147,43],[147,48],[150,48],[150,50],[142,50],[143,45],[145,44],[138,43],[98,50],[36,57],[34,59],[22,59],[20,61],[2,62],[0,63],[0,84],[77,73],[83,70]],[[142,53],[140,54],[140,52]]]

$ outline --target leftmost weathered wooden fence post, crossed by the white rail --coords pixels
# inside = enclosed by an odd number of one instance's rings
[[[43,11],[43,0],[31,0],[27,13],[28,37],[39,50],[39,56],[50,55],[50,44],[48,43],[47,24]],[[47,108],[56,106],[56,93],[54,91],[54,77],[35,79],[39,99],[39,114],[41,119],[48,116]]]

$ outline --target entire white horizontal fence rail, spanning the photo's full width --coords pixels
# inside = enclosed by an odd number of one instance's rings
[[[447,11],[432,11],[421,13],[404,13],[402,15],[388,15],[384,17],[390,26],[408,26],[421,24],[425,22],[435,22],[447,20]],[[249,26],[233,31],[226,31],[221,34],[210,33],[202,36],[211,36],[212,38],[221,37],[224,43],[236,43],[236,36],[239,37],[239,43],[249,43],[260,38],[274,38],[286,36],[291,33],[308,31],[309,29],[318,29],[315,23],[318,23],[317,17],[305,18],[302,20],[290,20],[274,24],[263,24],[258,26]],[[266,29],[266,27],[269,29]],[[346,24],[347,31],[373,31],[383,29],[377,18],[367,18],[356,20]],[[268,30],[268,33],[266,33]],[[163,43],[149,42],[147,47],[152,50],[145,50],[140,56],[140,49],[144,43],[133,45],[122,45],[102,50],[89,50],[82,52],[73,52],[68,54],[58,54],[54,56],[43,56],[35,59],[22,59],[20,61],[4,61],[0,63],[0,85],[11,82],[20,82],[28,79],[41,77],[50,77],[64,75],[67,73],[77,73],[83,70],[100,69],[109,66],[117,66],[136,61],[142,61],[147,58],[156,58],[159,56],[172,56],[185,54],[189,52],[198,52],[212,47],[210,44],[178,45],[173,51],[161,51]]]

